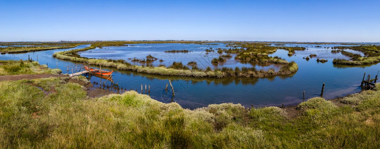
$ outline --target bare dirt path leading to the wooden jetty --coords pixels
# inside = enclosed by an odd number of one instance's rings
[[[19,75],[0,75],[0,81],[3,80],[20,80],[20,79],[36,79],[47,77],[69,77],[60,74],[19,74]]]

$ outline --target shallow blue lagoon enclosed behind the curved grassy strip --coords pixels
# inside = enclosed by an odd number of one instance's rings
[[[152,62],[153,66],[165,65],[166,67],[173,64],[173,62],[182,62],[183,65],[193,61],[197,62],[197,67],[206,69],[207,67],[214,68],[235,68],[235,67],[256,67],[258,70],[268,70],[269,68],[277,69],[280,66],[259,66],[254,64],[241,64],[238,60],[234,60],[236,54],[230,54],[231,58],[226,58],[226,62],[219,63],[219,65],[211,64],[211,60],[219,58],[222,54],[217,53],[218,48],[229,49],[226,44],[216,43],[217,45],[198,45],[198,44],[130,44],[124,47],[103,47],[104,49],[92,49],[78,53],[82,57],[95,58],[95,59],[113,59],[125,60],[133,65],[144,65],[139,62],[132,62],[134,58],[143,60],[148,55],[157,58]],[[214,52],[206,52],[206,49],[212,48]],[[171,50],[188,50],[189,53],[165,53],[164,51]],[[163,62],[159,62],[163,60]],[[189,66],[191,68],[191,66]]]

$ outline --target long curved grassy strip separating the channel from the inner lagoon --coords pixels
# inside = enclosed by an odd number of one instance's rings
[[[286,62],[286,63],[280,63],[280,64],[286,64],[279,72],[275,72],[274,70],[269,71],[256,71],[255,69],[246,69],[246,68],[236,68],[236,69],[215,69],[215,70],[200,70],[200,69],[183,69],[185,67],[145,67],[145,66],[136,66],[131,65],[129,63],[126,63],[124,61],[115,61],[115,60],[100,60],[100,59],[88,59],[80,57],[76,54],[78,51],[85,51],[89,49],[94,49],[96,46],[91,45],[90,47],[83,48],[83,49],[76,49],[71,51],[63,51],[58,52],[53,55],[53,57],[62,59],[62,60],[70,60],[74,62],[89,62],[90,64],[96,64],[101,65],[104,67],[111,67],[116,68],[118,70],[129,70],[129,71],[136,71],[139,73],[145,73],[145,74],[157,74],[157,75],[169,75],[169,76],[187,76],[187,77],[267,77],[267,76],[276,76],[276,75],[288,75],[292,74],[298,71],[298,65],[296,63],[289,63],[285,60],[279,60],[278,58],[270,58],[272,61],[276,62]],[[267,56],[266,56],[267,57]],[[177,63],[175,63],[177,64]],[[174,63],[173,63],[174,65]],[[181,68],[181,69],[173,69],[173,68]]]

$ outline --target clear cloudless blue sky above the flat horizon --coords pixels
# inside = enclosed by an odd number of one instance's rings
[[[0,41],[380,42],[380,0],[0,0]]]

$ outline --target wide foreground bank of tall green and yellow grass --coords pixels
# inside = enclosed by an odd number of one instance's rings
[[[376,90],[335,103],[312,98],[294,110],[230,103],[188,110],[134,91],[89,98],[60,78],[0,88],[3,148],[380,148]]]

